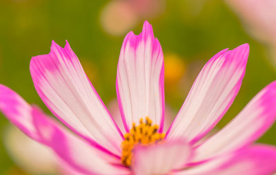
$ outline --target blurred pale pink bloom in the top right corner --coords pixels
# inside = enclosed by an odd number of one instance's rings
[[[239,15],[244,27],[256,39],[268,44],[276,66],[276,1],[275,0],[225,0]]]

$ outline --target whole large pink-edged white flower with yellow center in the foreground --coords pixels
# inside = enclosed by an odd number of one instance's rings
[[[276,82],[226,127],[197,144],[232,104],[248,53],[243,44],[212,57],[166,133],[164,59],[148,22],[140,35],[128,33],[119,56],[116,87],[123,131],[68,43],[61,48],[52,42],[48,55],[32,58],[30,73],[43,102],[72,132],[3,85],[0,109],[77,174],[271,174],[275,147],[253,142],[275,121]]]

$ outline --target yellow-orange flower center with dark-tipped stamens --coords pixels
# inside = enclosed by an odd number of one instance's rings
[[[135,123],[132,124],[132,129],[129,133],[125,133],[125,140],[121,142],[121,162],[130,166],[132,163],[132,150],[136,145],[150,145],[156,142],[161,142],[165,138],[165,133],[157,132],[158,125],[152,125],[152,120],[146,117],[146,122],[143,118],[140,119],[138,126]]]

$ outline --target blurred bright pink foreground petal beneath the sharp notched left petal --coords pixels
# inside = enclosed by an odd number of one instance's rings
[[[93,149],[88,143],[55,125],[55,122],[39,116],[40,111],[34,111],[34,113],[36,113],[34,125],[41,136],[41,142],[51,147],[77,172],[83,174],[130,173],[128,168],[120,166],[121,160]]]

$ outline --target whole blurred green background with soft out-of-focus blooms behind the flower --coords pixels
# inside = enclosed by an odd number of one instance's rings
[[[276,80],[273,0],[0,0],[0,83],[46,113],[29,73],[32,56],[52,39],[68,39],[108,107],[116,108],[115,77],[124,36],[150,21],[164,50],[166,105],[172,119],[204,64],[224,48],[250,44],[246,75],[226,125],[266,84]],[[110,109],[115,110],[116,109]],[[276,125],[259,142],[276,145]],[[11,127],[0,114],[0,174],[57,174],[57,158]]]

